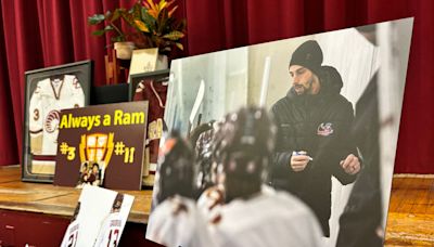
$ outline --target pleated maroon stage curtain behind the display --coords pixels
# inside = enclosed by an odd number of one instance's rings
[[[0,0],[0,165],[20,162],[24,72],[91,58],[104,80],[106,38],[87,16],[133,0]],[[414,16],[395,172],[434,173],[434,2],[432,0],[178,0],[194,55],[326,30]],[[178,54],[178,55],[179,55]]]

